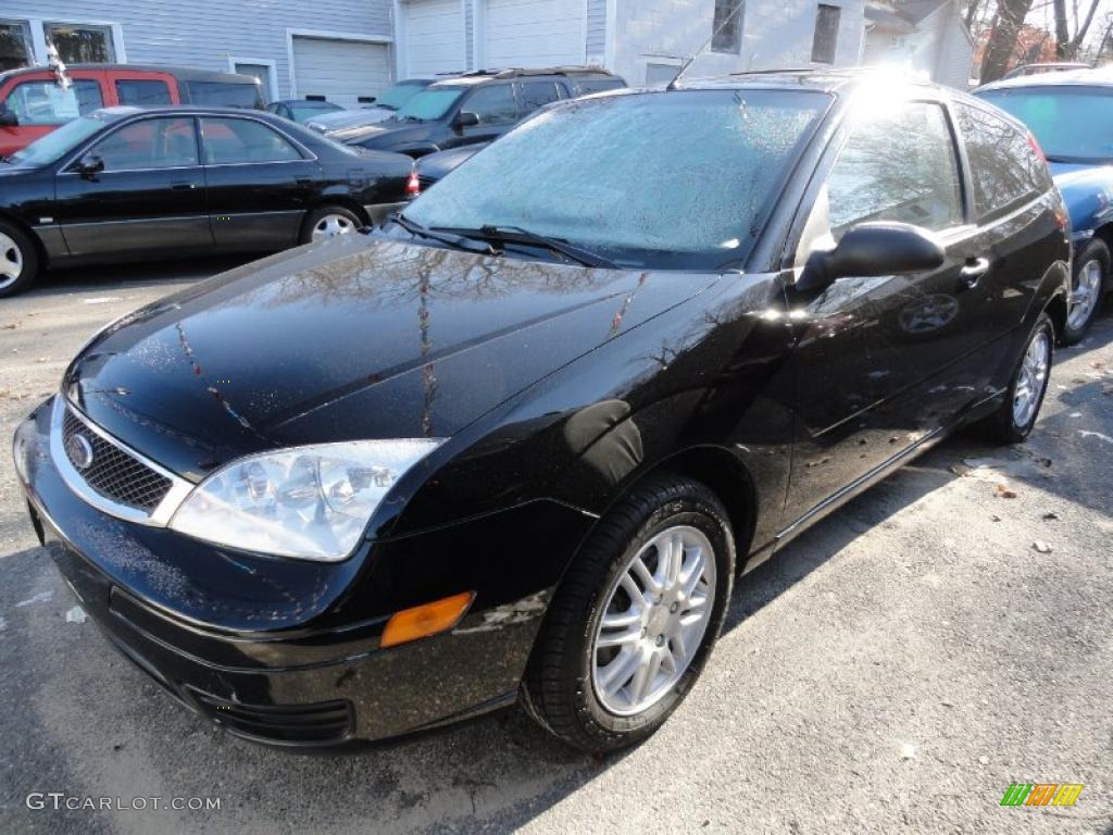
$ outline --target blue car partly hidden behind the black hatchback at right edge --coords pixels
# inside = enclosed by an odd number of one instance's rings
[[[1113,73],[1056,72],[1015,78],[976,94],[1024,122],[1043,149],[1071,215],[1071,313],[1062,337],[1078,342],[1113,289]],[[992,129],[992,128],[991,128]]]

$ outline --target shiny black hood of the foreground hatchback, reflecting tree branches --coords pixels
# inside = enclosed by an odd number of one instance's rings
[[[276,446],[450,436],[713,281],[351,236],[137,311],[63,385],[108,432],[199,480]]]

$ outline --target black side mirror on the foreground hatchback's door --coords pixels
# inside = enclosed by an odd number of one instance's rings
[[[853,226],[834,249],[808,256],[796,282],[801,292],[821,289],[847,276],[906,275],[937,269],[946,261],[938,237],[903,223],[864,223]]]

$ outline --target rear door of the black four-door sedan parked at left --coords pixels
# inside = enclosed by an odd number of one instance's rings
[[[313,155],[262,119],[201,116],[201,157],[217,246],[293,246],[321,183]]]

